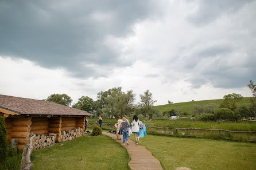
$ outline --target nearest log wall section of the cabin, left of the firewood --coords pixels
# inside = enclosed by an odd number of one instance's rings
[[[11,139],[18,140],[17,148],[22,150],[25,144],[29,142],[30,129],[32,125],[32,117],[16,117],[13,118],[13,126],[11,128]]]

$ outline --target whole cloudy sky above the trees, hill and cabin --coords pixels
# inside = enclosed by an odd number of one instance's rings
[[[0,1],[0,94],[251,96],[256,1]]]

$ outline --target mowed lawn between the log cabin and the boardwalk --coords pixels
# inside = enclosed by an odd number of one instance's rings
[[[32,152],[33,169],[129,169],[126,149],[108,136],[85,135]]]

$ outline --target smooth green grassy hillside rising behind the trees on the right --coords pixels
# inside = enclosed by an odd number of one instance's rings
[[[179,109],[181,113],[183,113],[183,112],[191,113],[191,110],[193,109],[193,105],[200,105],[200,106],[204,107],[207,104],[214,103],[214,104],[216,104],[217,108],[219,108],[220,103],[222,103],[222,101],[223,101],[223,99],[178,102],[178,103],[174,103],[174,104],[155,106],[155,108],[157,108],[161,112],[163,112],[164,110]],[[250,106],[250,97],[244,97],[243,101],[239,102],[238,105]]]

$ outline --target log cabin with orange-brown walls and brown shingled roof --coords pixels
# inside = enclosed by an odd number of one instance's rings
[[[5,117],[7,140],[18,140],[18,149],[29,142],[30,133],[47,136],[56,134],[56,141],[63,141],[61,132],[79,129],[84,134],[84,121],[94,114],[84,110],[56,104],[0,94],[0,116]]]

